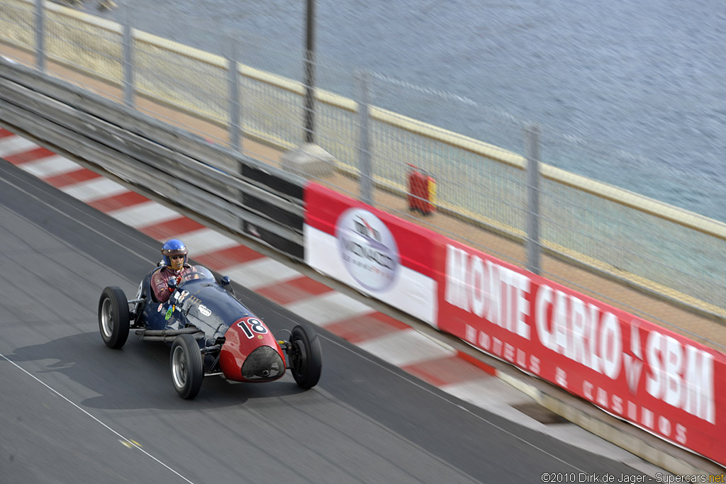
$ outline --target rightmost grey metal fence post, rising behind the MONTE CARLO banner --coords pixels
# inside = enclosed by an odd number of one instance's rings
[[[540,258],[542,246],[539,244],[539,159],[540,129],[537,125],[525,128],[527,153],[527,210],[526,240],[527,270],[539,275],[542,270]]]

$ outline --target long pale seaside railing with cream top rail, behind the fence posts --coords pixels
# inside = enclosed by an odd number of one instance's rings
[[[36,60],[46,57],[223,126],[229,139],[219,141],[232,147],[235,134],[280,149],[303,141],[295,121],[303,112],[302,83],[234,62],[233,54],[203,52],[42,0],[46,39],[39,46],[44,37],[33,35],[33,3],[0,3],[0,41],[36,53]],[[324,89],[316,90],[316,102],[318,144],[338,171],[363,183],[369,175],[356,145],[359,103]],[[415,163],[435,174],[441,209],[526,238],[525,157],[382,107],[371,105],[367,116],[373,183],[405,192],[405,164]],[[724,223],[547,163],[540,172],[539,243],[546,250],[726,318]]]

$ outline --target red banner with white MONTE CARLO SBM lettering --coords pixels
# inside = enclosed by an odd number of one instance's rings
[[[441,330],[726,464],[726,356],[449,240]]]

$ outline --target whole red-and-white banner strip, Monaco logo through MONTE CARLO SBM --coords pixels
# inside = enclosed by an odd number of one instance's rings
[[[319,184],[306,263],[726,465],[726,355]]]

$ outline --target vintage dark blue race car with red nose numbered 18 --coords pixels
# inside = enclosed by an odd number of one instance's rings
[[[156,300],[152,274],[139,284],[133,300],[123,290],[106,287],[98,304],[101,337],[121,348],[136,329],[142,341],[171,345],[171,380],[181,398],[194,398],[204,377],[219,375],[236,382],[272,382],[290,369],[300,387],[317,385],[322,369],[320,342],[314,329],[297,325],[289,340],[277,340],[264,321],[234,297],[229,277],[218,283],[211,271],[194,266],[166,303]],[[129,308],[132,306],[132,308]]]

